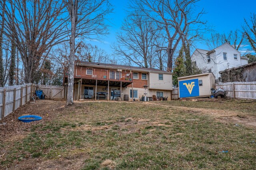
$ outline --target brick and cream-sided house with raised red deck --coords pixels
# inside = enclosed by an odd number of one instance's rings
[[[67,91],[68,74],[64,75]],[[145,89],[146,87],[146,89]],[[142,96],[171,99],[172,73],[160,69],[133,67],[80,61],[74,69],[74,100],[115,99],[114,91],[120,91],[122,100],[140,100]],[[132,93],[133,92],[133,93]],[[118,97],[118,100],[121,100]]]

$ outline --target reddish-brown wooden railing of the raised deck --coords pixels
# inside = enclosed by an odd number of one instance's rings
[[[68,73],[65,73],[65,77],[68,77]],[[132,82],[132,73],[130,71],[75,67],[74,78]]]

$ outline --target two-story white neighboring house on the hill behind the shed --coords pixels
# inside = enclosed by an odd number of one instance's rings
[[[224,43],[212,50],[196,49],[191,56],[192,62],[200,69],[212,72],[216,79],[220,77],[219,71],[248,64],[248,58],[240,56],[229,43]]]

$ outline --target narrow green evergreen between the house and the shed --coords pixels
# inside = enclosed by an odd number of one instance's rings
[[[186,68],[184,64],[184,47],[180,49],[179,55],[174,62],[174,69],[172,75],[172,82],[174,87],[178,87],[178,77],[186,75]]]

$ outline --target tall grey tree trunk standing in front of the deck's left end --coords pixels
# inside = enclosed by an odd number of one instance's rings
[[[73,99],[73,88],[74,88],[74,55],[75,55],[75,36],[76,36],[76,14],[74,9],[74,4],[72,3],[72,9],[70,11],[71,15],[71,38],[70,38],[70,53],[69,53],[69,63],[68,63],[68,95],[66,105],[72,105],[74,103]]]

